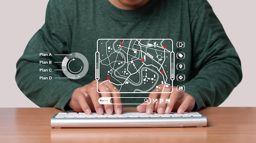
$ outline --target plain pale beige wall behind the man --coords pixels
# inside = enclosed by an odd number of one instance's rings
[[[208,0],[242,61],[243,80],[220,106],[256,106],[254,0]],[[0,107],[38,107],[18,89],[16,61],[43,25],[48,0],[0,1]]]

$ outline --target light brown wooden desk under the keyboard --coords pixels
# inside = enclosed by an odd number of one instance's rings
[[[124,112],[135,108],[125,108]],[[203,128],[62,128],[53,129],[55,108],[0,108],[1,143],[255,143],[256,107],[209,107]]]

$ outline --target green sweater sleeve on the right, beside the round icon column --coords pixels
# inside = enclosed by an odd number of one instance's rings
[[[242,80],[241,63],[209,3],[202,0],[191,19],[195,77],[185,85],[196,101],[194,110],[219,106]]]

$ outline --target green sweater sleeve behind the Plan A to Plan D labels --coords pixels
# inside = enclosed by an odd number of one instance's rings
[[[67,102],[73,91],[81,85],[70,79],[54,79],[54,77],[65,77],[62,71],[54,71],[61,69],[61,64],[55,61],[60,62],[64,57],[54,54],[69,54],[71,38],[70,23],[65,13],[67,9],[61,6],[61,2],[59,4],[57,2],[49,1],[45,24],[31,38],[25,52],[18,60],[16,82],[20,90],[38,106],[67,111],[69,110],[65,108]],[[52,56],[41,56],[40,53],[51,53]],[[48,63],[43,64],[40,61]],[[48,71],[40,72],[40,69]]]

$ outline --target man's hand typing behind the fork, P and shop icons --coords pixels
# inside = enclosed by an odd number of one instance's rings
[[[159,85],[161,89],[164,88],[164,92],[171,92],[171,87],[164,87],[164,85]],[[184,111],[192,111],[195,106],[195,99],[189,93],[178,92],[176,87],[173,87],[173,92],[169,93],[154,93],[157,92],[157,89],[154,89],[150,94],[149,98],[158,99],[157,104],[151,102],[150,104],[141,104],[137,106],[138,112],[146,112],[147,114],[152,114],[157,112],[159,114],[169,114],[171,111],[177,111],[177,113],[183,113]],[[159,103],[159,99],[170,99],[171,102],[166,104],[166,102]]]

